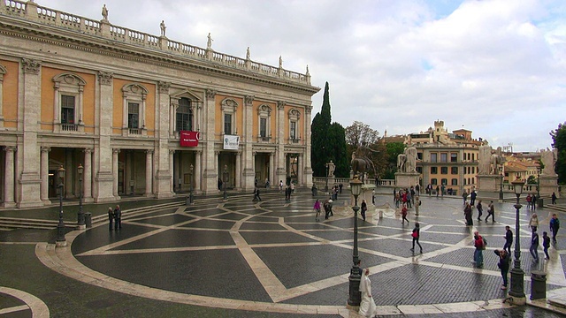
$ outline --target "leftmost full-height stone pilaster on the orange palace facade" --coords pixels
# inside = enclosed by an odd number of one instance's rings
[[[40,171],[40,148],[37,144],[37,132],[41,121],[42,96],[41,96],[41,62],[33,59],[22,58],[23,87],[21,95],[21,122],[18,124],[19,132],[23,132],[18,145],[18,158],[16,173],[19,176],[18,184],[18,207],[30,208],[41,207],[43,202],[40,197],[42,180]]]

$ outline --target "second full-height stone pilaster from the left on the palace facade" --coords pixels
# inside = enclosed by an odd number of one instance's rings
[[[91,193],[96,202],[114,201],[119,199],[118,169],[114,174],[114,163],[118,164],[118,153],[115,154],[114,151],[119,152],[119,149],[113,149],[111,145],[111,135],[115,128],[112,125],[114,74],[99,71],[97,79],[95,125],[98,145],[95,146],[92,157],[94,162],[91,168],[93,181]]]

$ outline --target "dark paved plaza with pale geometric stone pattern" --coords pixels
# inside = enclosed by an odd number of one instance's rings
[[[480,193],[485,206],[491,196]],[[349,194],[341,194],[334,216],[321,222],[315,221],[310,193],[297,191],[291,201],[278,192],[262,198],[200,198],[190,206],[125,201],[120,231],[97,222],[88,230],[69,231],[65,247],[55,247],[54,231],[4,231],[0,316],[357,317],[346,307],[354,227]],[[503,246],[505,225],[515,229],[512,202],[494,200],[496,222],[478,222],[474,215],[470,229],[464,225],[462,198],[421,199],[419,216],[409,210],[409,225],[387,208],[387,202],[394,203],[385,191],[376,198],[378,210],[365,222],[358,220],[360,259],[370,268],[380,315],[562,316],[502,301],[507,293],[500,289],[493,249]],[[98,207],[99,217],[105,208]],[[548,230],[552,213],[566,222],[554,209],[537,212],[540,233]],[[547,296],[563,295],[566,235],[551,247],[550,261],[539,250],[541,261],[533,263],[531,213],[521,208],[525,294],[528,298],[531,271],[537,269],[547,272]],[[415,221],[421,224],[423,254],[409,250]],[[488,241],[483,269],[471,262],[473,231]]]

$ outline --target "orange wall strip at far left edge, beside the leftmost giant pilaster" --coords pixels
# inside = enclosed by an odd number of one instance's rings
[[[4,127],[17,128],[18,123],[18,75],[19,64],[17,62],[9,62],[0,60],[6,68],[3,81],[2,105],[4,115]]]

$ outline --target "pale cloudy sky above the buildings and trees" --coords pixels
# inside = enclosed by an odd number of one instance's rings
[[[206,47],[330,85],[333,121],[383,135],[437,119],[493,147],[550,147],[566,122],[563,0],[37,0],[52,9]],[[313,96],[313,117],[323,90]]]

